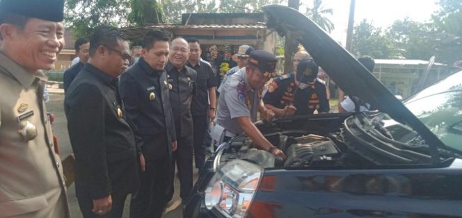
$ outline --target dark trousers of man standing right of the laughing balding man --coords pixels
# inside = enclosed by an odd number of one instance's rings
[[[201,169],[205,162],[205,133],[207,132],[207,115],[193,116],[194,132],[194,163]]]

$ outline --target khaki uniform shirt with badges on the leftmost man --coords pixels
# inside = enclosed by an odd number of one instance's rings
[[[0,52],[0,217],[70,217],[43,101],[46,79]]]

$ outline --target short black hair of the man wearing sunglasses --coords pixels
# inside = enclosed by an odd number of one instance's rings
[[[90,37],[90,57],[95,55],[100,46],[112,49],[117,47],[118,40],[127,41],[127,36],[113,26],[99,26]]]

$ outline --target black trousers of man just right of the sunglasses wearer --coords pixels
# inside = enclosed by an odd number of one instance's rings
[[[145,171],[140,172],[140,189],[132,195],[130,217],[162,217],[167,201],[167,178],[170,160],[168,157],[145,160]]]

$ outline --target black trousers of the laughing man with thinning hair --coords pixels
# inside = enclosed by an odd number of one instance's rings
[[[193,189],[193,137],[192,135],[186,137],[177,136],[177,150],[173,152],[172,163],[170,164],[170,173],[168,175],[168,191],[167,199],[170,201],[173,198],[175,187],[175,166],[178,169],[178,178],[180,179],[180,197],[182,203],[191,194]]]

